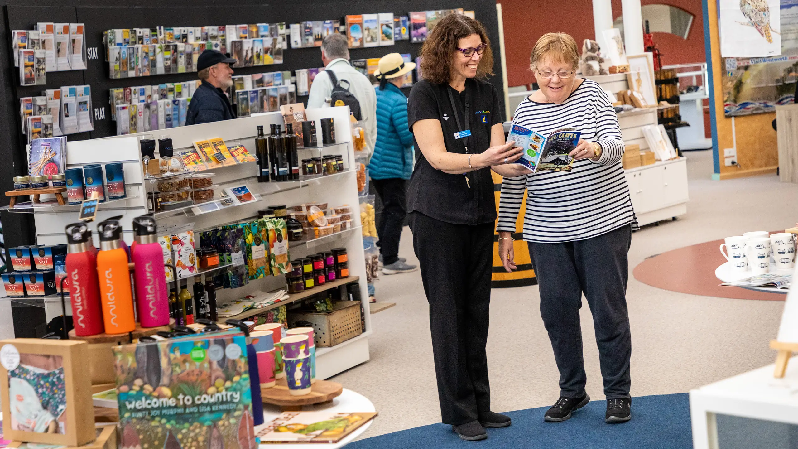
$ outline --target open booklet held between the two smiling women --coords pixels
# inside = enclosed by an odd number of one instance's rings
[[[579,144],[581,134],[573,128],[562,128],[545,137],[526,126],[513,123],[507,141],[515,141],[516,145],[513,146],[523,148],[521,158],[514,163],[530,169],[531,173],[544,170],[570,172],[574,158],[568,153]]]

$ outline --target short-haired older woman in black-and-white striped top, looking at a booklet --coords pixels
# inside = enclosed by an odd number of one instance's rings
[[[560,375],[560,397],[545,419],[564,421],[590,401],[579,324],[584,293],[599,345],[605,421],[622,423],[631,419],[626,252],[635,219],[621,165],[618,116],[599,84],[576,77],[579,53],[569,34],[544,34],[530,60],[540,89],[521,102],[514,121],[543,135],[574,128],[582,140],[570,153],[576,160],[571,172],[527,174],[520,165],[496,169],[504,176],[499,255],[508,272],[516,268],[512,232],[526,188],[523,240],[529,242],[540,315]]]

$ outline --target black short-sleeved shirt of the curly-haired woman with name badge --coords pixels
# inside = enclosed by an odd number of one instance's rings
[[[460,117],[459,129],[449,97],[452,93]],[[468,117],[465,117],[465,101],[468,99]],[[413,85],[407,105],[408,124],[419,120],[440,121],[444,133],[444,144],[449,153],[466,153],[465,138],[456,138],[455,133],[471,130],[468,137],[468,153],[482,153],[491,146],[491,128],[502,122],[499,93],[487,81],[468,78],[463,92],[457,92],[447,84],[433,84],[427,80]],[[491,169],[486,167],[470,173],[449,174],[434,169],[421,153],[416,136],[416,166],[410,177],[408,189],[409,211],[418,211],[428,217],[452,224],[482,224],[496,221],[496,197],[493,192]],[[470,184],[470,188],[469,188]]]

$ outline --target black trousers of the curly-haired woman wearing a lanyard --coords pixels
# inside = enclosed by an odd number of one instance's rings
[[[440,415],[446,424],[469,423],[491,407],[485,344],[493,226],[450,224],[410,213],[413,248],[429,301]]]

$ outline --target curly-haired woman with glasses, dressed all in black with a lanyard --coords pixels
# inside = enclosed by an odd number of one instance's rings
[[[504,145],[493,58],[484,26],[462,14],[437,23],[421,48],[408,123],[421,150],[410,177],[413,248],[429,301],[443,422],[462,439],[510,425],[490,411],[488,304],[496,204],[489,167],[520,157]]]

